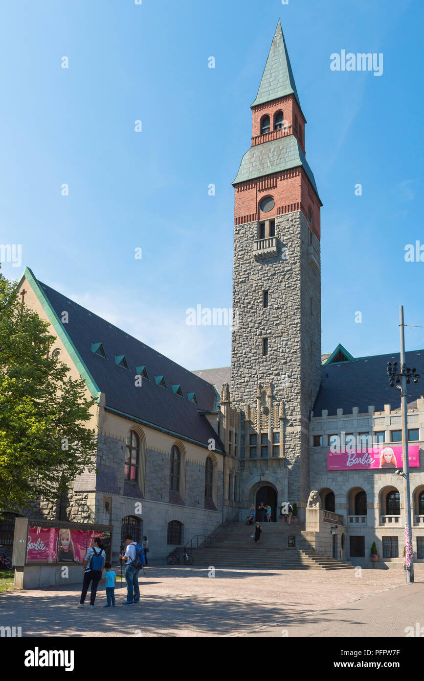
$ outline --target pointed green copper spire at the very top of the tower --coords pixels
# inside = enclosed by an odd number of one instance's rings
[[[279,20],[264,73],[262,74],[258,95],[256,95],[256,99],[251,107],[253,108],[253,106],[264,104],[266,101],[272,101],[272,99],[279,99],[280,97],[285,97],[285,95],[292,94],[294,94],[300,106],[292,65],[287,54],[283,29]]]

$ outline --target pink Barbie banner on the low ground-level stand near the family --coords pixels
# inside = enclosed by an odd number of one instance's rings
[[[82,563],[96,530],[70,530],[31,526],[28,529],[27,563]]]

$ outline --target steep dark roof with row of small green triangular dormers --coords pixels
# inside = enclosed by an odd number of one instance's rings
[[[85,367],[94,387],[105,394],[106,409],[196,443],[208,445],[209,439],[213,438],[217,450],[224,450],[207,418],[199,413],[215,409],[216,393],[211,383],[37,281],[31,270],[27,269],[25,274],[35,288],[39,287],[37,295],[46,311],[50,306],[56,313],[56,330],[61,327],[69,336],[83,362],[78,367],[83,370],[82,375]],[[69,313],[67,323],[61,321],[63,311]],[[92,351],[92,343],[103,345],[106,358]],[[128,369],[116,363],[115,355],[118,358],[125,355]],[[149,376],[149,380],[143,379],[141,387],[135,385],[136,366],[145,366]],[[164,377],[166,388],[156,383],[155,376]],[[181,385],[182,397],[171,387],[177,384]],[[190,402],[188,393],[196,395],[197,404]]]

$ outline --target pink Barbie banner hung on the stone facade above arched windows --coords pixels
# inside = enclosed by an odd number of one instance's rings
[[[408,447],[408,461],[411,468],[419,466],[419,445]],[[371,447],[362,452],[332,452],[327,450],[328,471],[349,471],[366,469],[398,469],[404,465],[402,446],[400,447]]]

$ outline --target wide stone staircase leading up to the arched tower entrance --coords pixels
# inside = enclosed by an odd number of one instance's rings
[[[353,569],[350,563],[317,554],[302,537],[304,524],[294,522],[262,523],[260,545],[256,546],[250,535],[253,527],[245,522],[233,522],[219,526],[211,534],[210,548],[188,548],[196,567],[246,570],[298,570]],[[295,537],[296,545],[288,546],[289,536]]]

